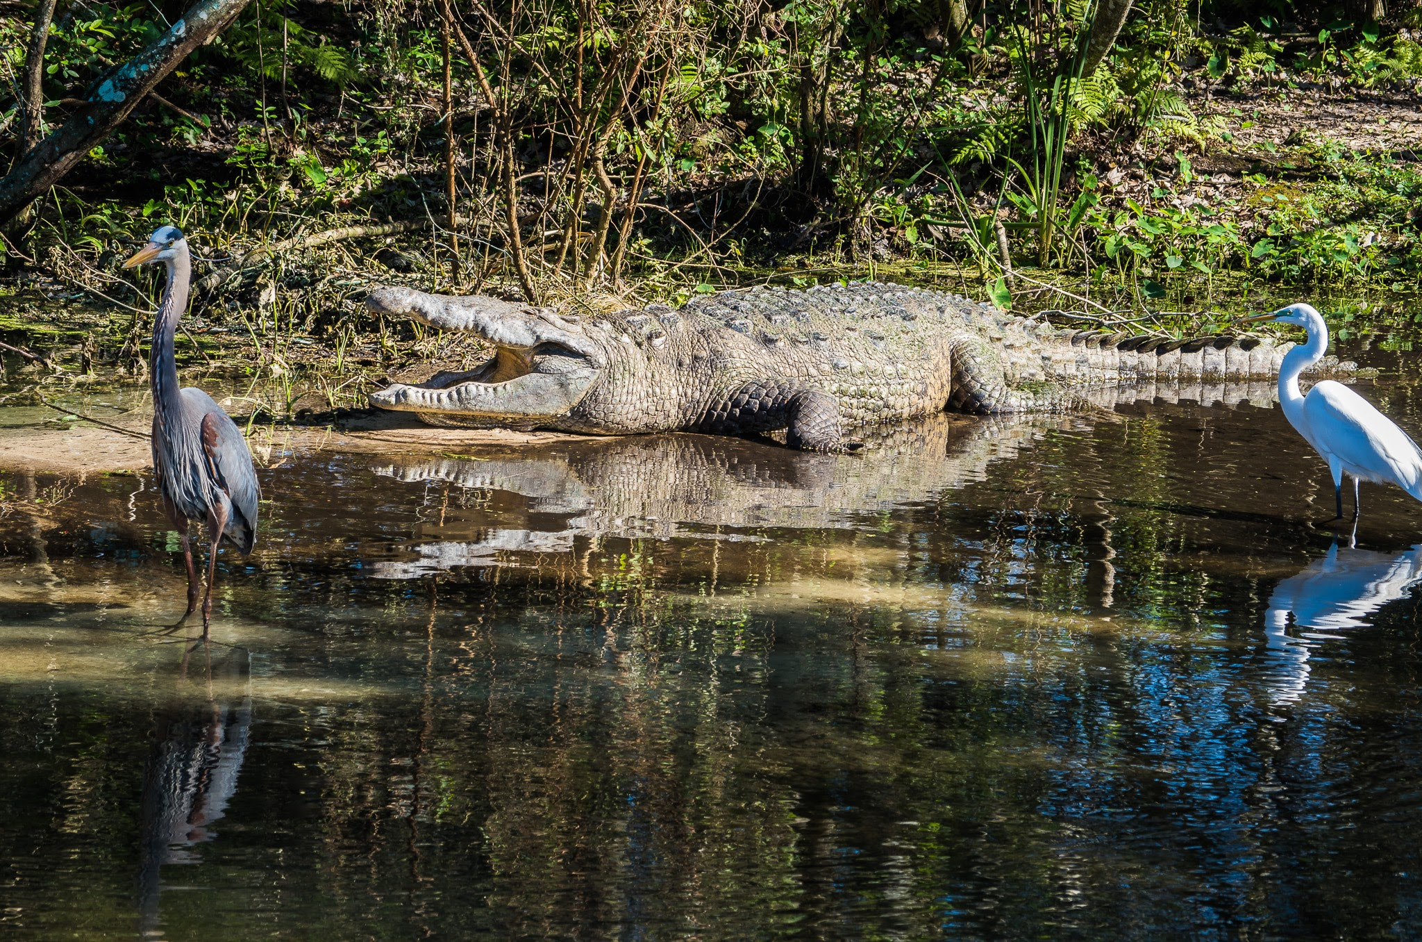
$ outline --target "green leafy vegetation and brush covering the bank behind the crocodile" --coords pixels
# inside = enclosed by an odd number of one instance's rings
[[[206,1],[226,28],[4,231],[6,280],[112,305],[129,363],[121,243],[162,222],[208,324],[338,371],[425,340],[365,319],[373,280],[597,305],[887,270],[1166,326],[1220,286],[1422,280],[1415,7]],[[0,198],[183,9],[3,13]]]

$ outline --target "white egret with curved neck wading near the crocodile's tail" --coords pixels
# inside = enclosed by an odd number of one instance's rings
[[[1358,518],[1358,482],[1396,484],[1422,501],[1422,450],[1405,431],[1342,383],[1322,380],[1308,396],[1298,391],[1298,374],[1322,359],[1328,324],[1308,305],[1290,305],[1246,320],[1273,320],[1308,332],[1308,342],[1284,354],[1278,367],[1278,404],[1284,417],[1314,447],[1334,478],[1334,498],[1342,518],[1342,477],[1352,478],[1352,515]]]

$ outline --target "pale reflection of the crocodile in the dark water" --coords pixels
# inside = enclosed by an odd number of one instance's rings
[[[476,460],[405,458],[375,468],[404,481],[449,482],[529,498],[512,528],[469,539],[417,536],[414,561],[383,561],[383,578],[417,578],[455,565],[508,562],[505,551],[569,552],[577,535],[668,538],[695,534],[762,539],[754,528],[843,528],[865,514],[933,501],[980,480],[1048,428],[1081,417],[936,416],[893,427],[866,457],[829,455],[712,435],[583,438]],[[546,515],[546,528],[538,526]]]

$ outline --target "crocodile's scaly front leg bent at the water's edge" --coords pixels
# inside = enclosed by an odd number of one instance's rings
[[[805,451],[855,451],[863,444],[843,437],[839,401],[833,396],[775,380],[747,383],[711,404],[694,428],[718,435],[784,428],[785,444]]]

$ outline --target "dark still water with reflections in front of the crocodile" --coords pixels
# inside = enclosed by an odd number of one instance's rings
[[[1267,403],[263,464],[206,647],[0,478],[9,933],[1422,936],[1422,505]]]

